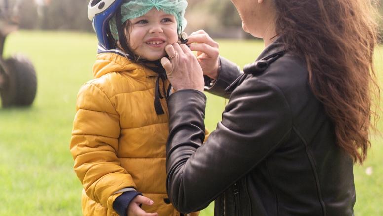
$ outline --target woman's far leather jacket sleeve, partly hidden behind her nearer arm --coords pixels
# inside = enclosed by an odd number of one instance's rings
[[[225,89],[234,82],[243,72],[239,70],[239,66],[235,63],[220,56],[220,67],[218,69],[218,77],[214,81],[210,77],[204,76],[205,79],[205,91],[228,98],[230,93],[225,92]]]

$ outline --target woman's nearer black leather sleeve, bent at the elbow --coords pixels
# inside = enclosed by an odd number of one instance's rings
[[[219,122],[204,145],[206,97],[181,90],[168,99],[166,189],[183,213],[209,205],[288,139],[289,105],[277,86],[249,76],[233,91]]]

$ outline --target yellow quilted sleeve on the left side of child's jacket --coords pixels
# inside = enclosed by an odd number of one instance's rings
[[[92,82],[81,87],[76,109],[70,145],[75,173],[89,198],[113,211],[118,197],[114,193],[135,187],[117,158],[119,115],[110,98]]]

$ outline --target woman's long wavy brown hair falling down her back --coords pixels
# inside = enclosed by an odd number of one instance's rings
[[[371,146],[369,131],[376,129],[378,116],[372,108],[380,94],[371,0],[273,2],[276,32],[306,62],[309,84],[334,124],[337,144],[355,163],[363,163]]]

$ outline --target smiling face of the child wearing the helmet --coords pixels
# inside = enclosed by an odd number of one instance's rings
[[[146,60],[161,59],[166,55],[165,46],[178,40],[176,18],[163,10],[153,7],[130,22],[129,46],[136,55]]]

